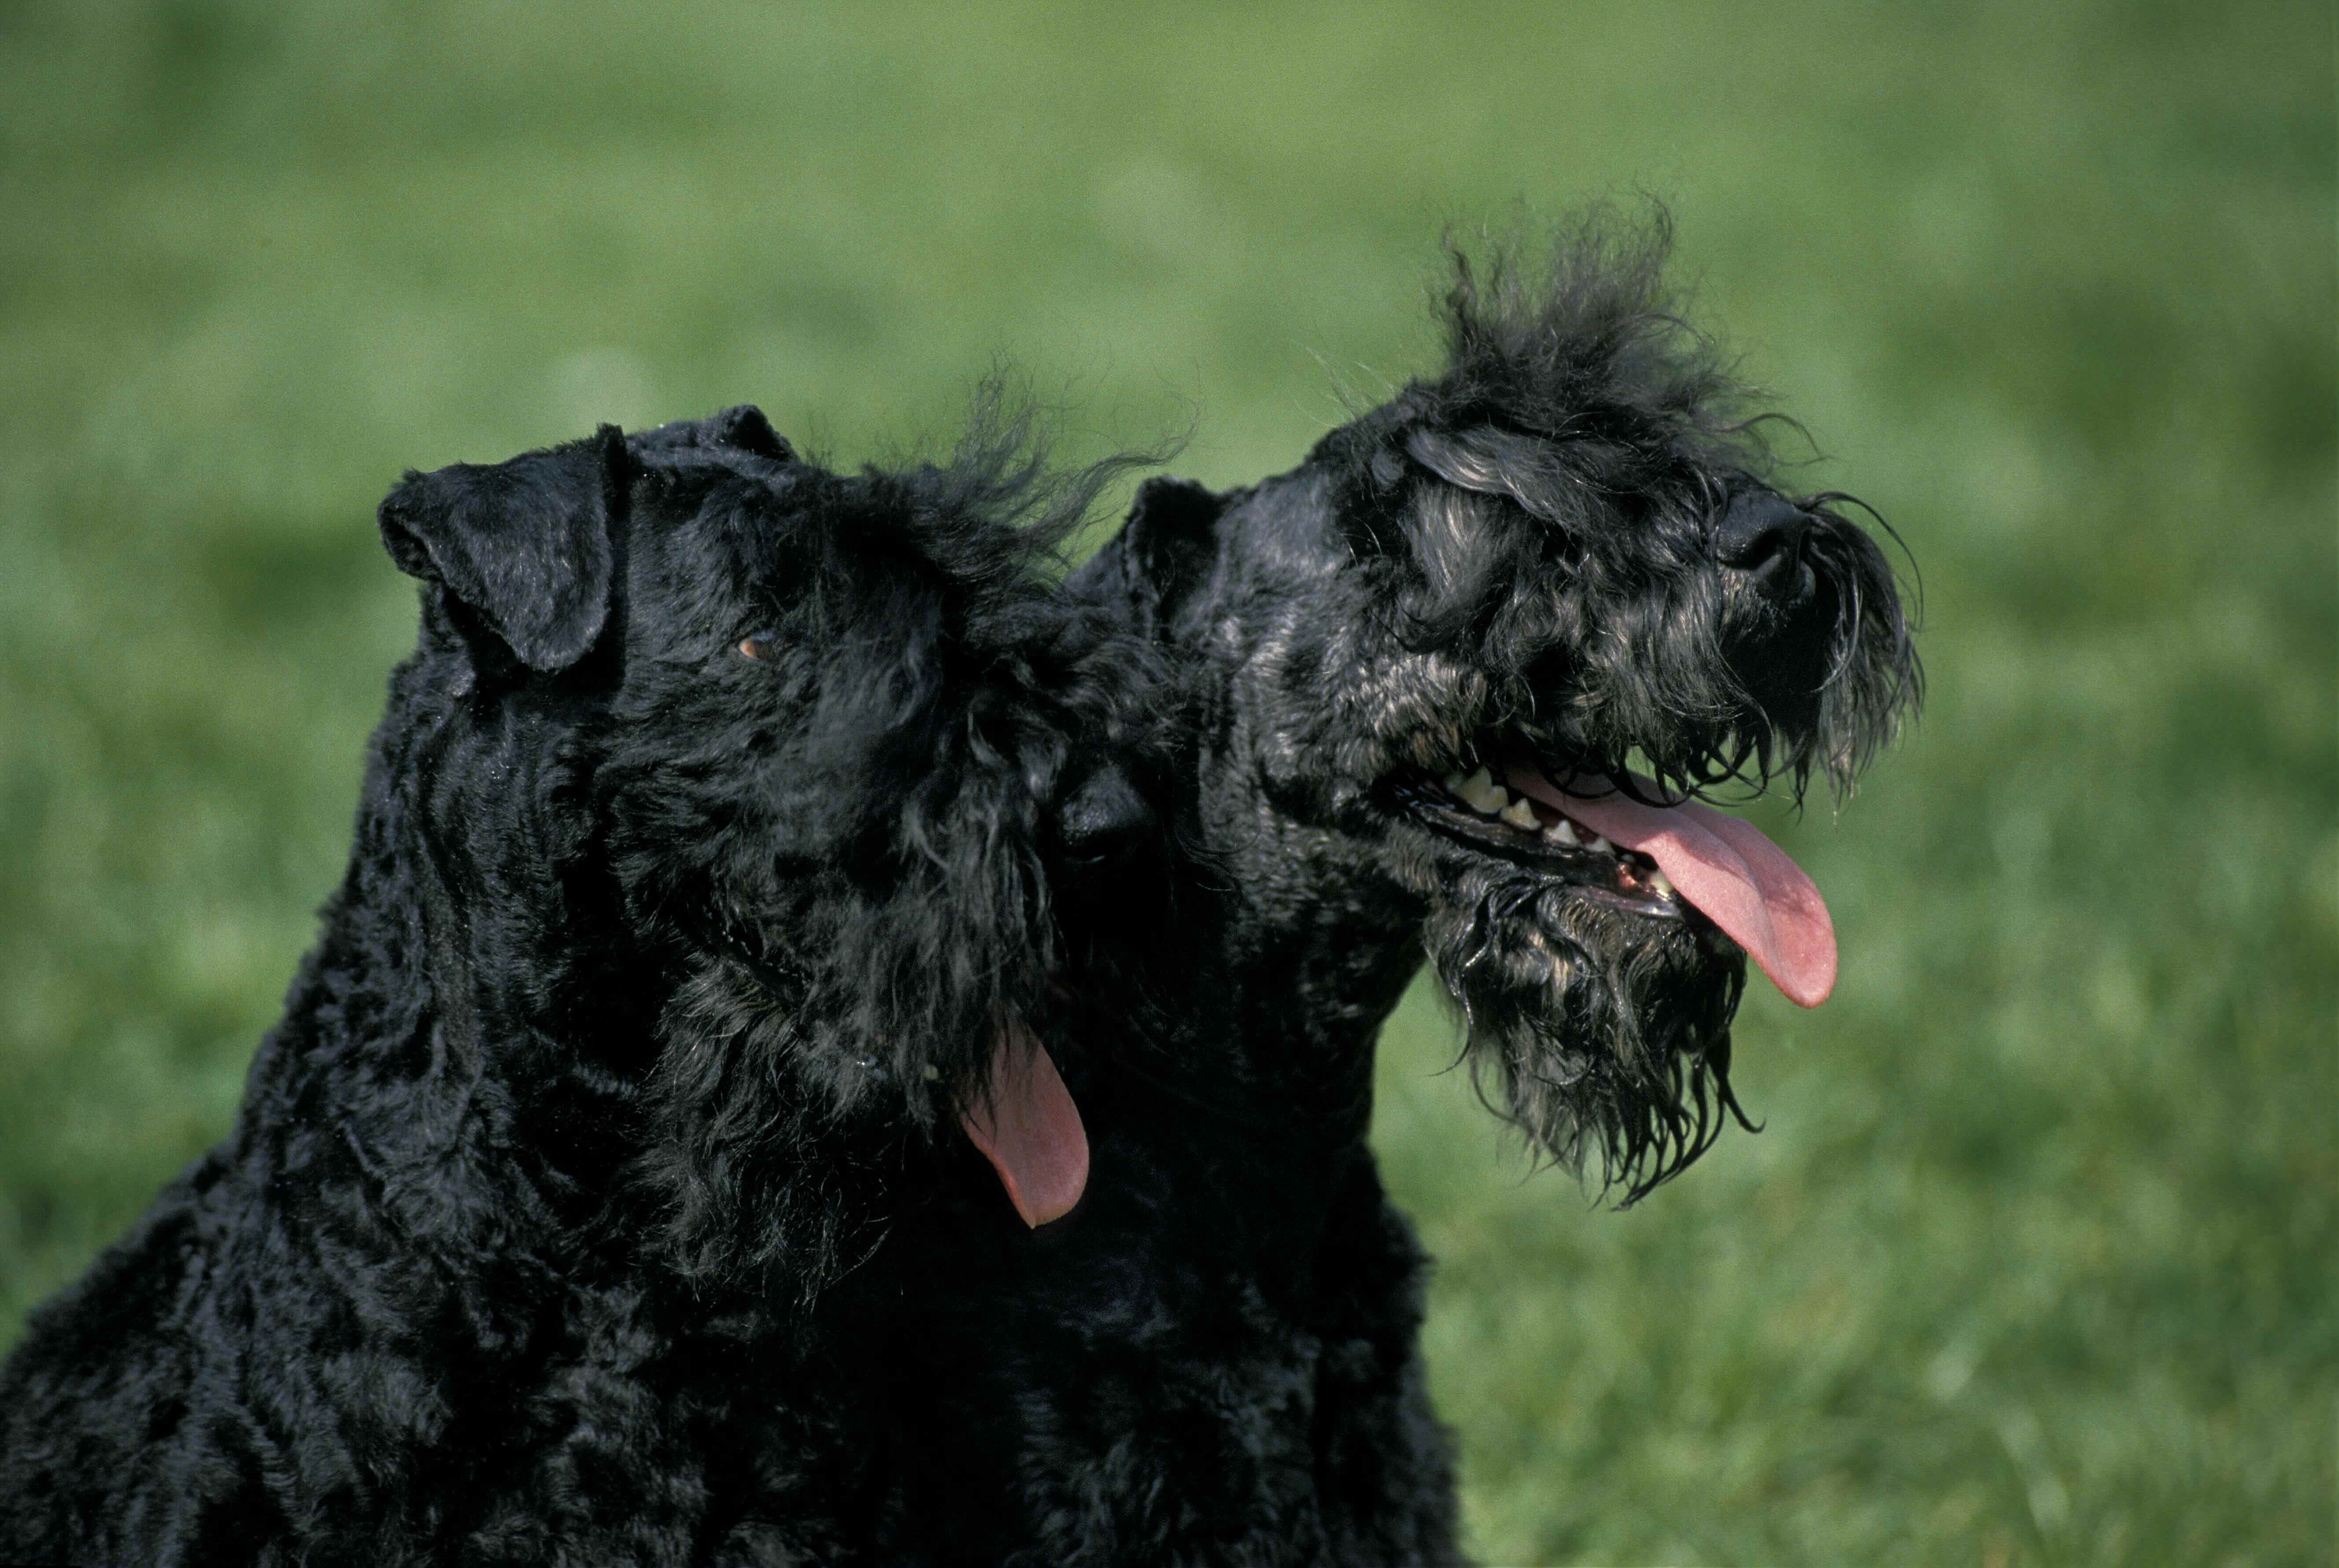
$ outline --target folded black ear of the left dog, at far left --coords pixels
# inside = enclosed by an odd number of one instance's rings
[[[444,587],[531,669],[566,669],[608,620],[608,529],[625,475],[617,426],[508,463],[409,473],[381,503],[381,543],[400,571]]]

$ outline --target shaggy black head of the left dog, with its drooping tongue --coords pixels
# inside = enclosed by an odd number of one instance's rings
[[[634,1030],[627,1154],[695,1264],[819,1278],[851,1217],[807,1187],[861,1161],[882,1205],[954,1121],[1027,1219],[1078,1191],[1036,1041],[1081,962],[1060,906],[1153,828],[1144,653],[1043,571],[1092,487],[1020,438],[840,475],[732,410],[381,508],[435,585],[402,674],[440,709],[433,814],[573,1039]]]

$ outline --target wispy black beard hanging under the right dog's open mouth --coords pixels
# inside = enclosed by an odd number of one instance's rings
[[[1619,1208],[1705,1154],[1724,1114],[1747,1126],[1729,1077],[1745,955],[1719,955],[1691,922],[1474,866],[1448,880],[1427,948],[1469,1030],[1478,1098],[1539,1156],[1598,1168]]]

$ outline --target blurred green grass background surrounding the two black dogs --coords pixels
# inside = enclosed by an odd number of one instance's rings
[[[1925,571],[1775,821],[1845,981],[1642,1208],[1434,1002],[1378,1142],[1495,1563],[2304,1563],[2339,1531],[2327,7],[0,5],[0,1339],[218,1137],[412,587],[372,506],[755,400],[1284,468],[1450,222],[1663,192]]]

